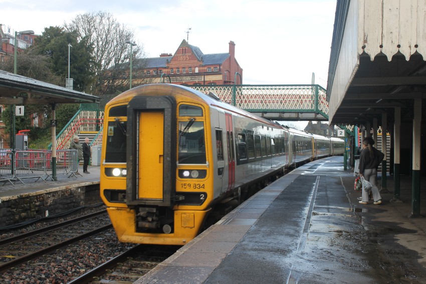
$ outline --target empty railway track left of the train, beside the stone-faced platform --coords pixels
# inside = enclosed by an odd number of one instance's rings
[[[106,210],[103,210],[0,240],[0,272],[111,227]]]

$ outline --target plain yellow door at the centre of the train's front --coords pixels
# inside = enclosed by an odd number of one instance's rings
[[[139,199],[163,199],[164,113],[139,114]]]

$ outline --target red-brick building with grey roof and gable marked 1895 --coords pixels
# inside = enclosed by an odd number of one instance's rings
[[[240,76],[236,76],[238,72]],[[164,79],[179,85],[227,85],[242,84],[243,69],[235,59],[235,43],[230,41],[228,53],[203,54],[193,45],[182,41],[176,52],[163,53],[160,57],[144,58],[133,62],[133,84],[139,85],[142,78],[152,77],[151,82]],[[165,78],[164,78],[165,77]],[[138,81],[139,78],[139,81]],[[237,82],[234,82],[237,78]]]

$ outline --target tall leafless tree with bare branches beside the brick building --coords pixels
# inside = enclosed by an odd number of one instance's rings
[[[134,39],[133,31],[119,24],[112,14],[101,11],[78,15],[65,28],[93,46],[97,78],[91,93],[116,95],[127,89],[130,48],[125,41]],[[132,48],[132,53],[134,60],[144,56],[140,44]]]

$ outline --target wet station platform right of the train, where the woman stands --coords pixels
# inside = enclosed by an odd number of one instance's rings
[[[426,218],[407,217],[411,177],[401,177],[401,202],[389,202],[393,177],[387,176],[380,205],[359,204],[354,179],[343,171],[342,157],[306,164],[136,283],[426,282]],[[424,180],[421,185],[424,192]]]

